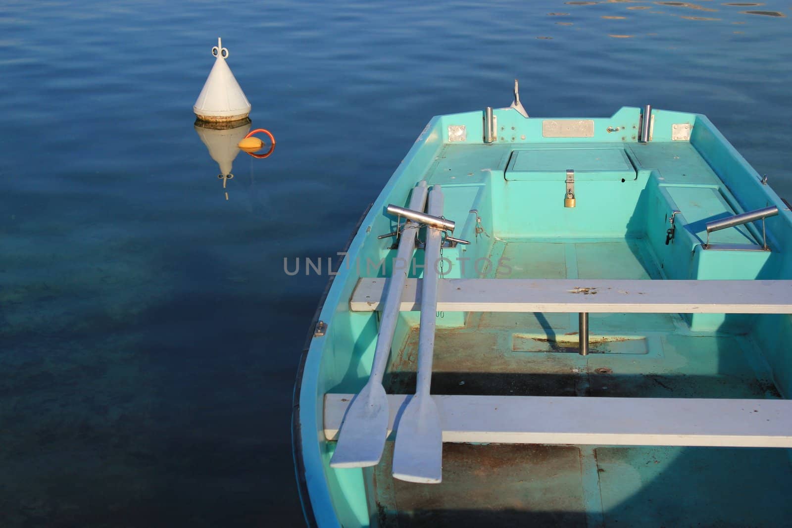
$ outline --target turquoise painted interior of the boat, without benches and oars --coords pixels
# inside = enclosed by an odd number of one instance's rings
[[[706,415],[706,401],[745,405],[790,397],[786,313],[592,312],[585,316],[588,354],[580,353],[582,309],[575,303],[594,298],[592,283],[649,281],[643,291],[651,302],[654,294],[673,297],[680,280],[734,280],[739,297],[752,284],[792,279],[788,206],[706,118],[655,111],[653,138],[642,142],[638,108],[592,120],[597,132],[583,139],[545,135],[548,127],[563,129],[561,120],[525,120],[513,110],[496,115],[489,143],[478,137],[481,112],[433,120],[383,194],[406,207],[418,180],[442,187],[444,217],[456,222],[453,236],[470,241],[444,246],[443,279],[569,279],[577,281],[577,295],[563,312],[439,307],[432,394],[598,398],[590,419],[604,429],[619,420],[607,398],[635,405],[644,398],[685,399],[698,402],[691,413]],[[573,134],[588,126],[570,123]],[[414,177],[405,177],[408,171]],[[393,272],[395,237],[377,238],[397,225],[383,214],[385,204],[376,203],[361,227],[357,270],[338,288],[334,338],[316,394],[320,409],[325,394],[355,394],[367,381],[379,312],[350,302],[361,281]],[[707,229],[772,206],[779,215]],[[421,232],[419,241],[424,237]],[[411,279],[421,277],[422,262],[416,249]],[[664,291],[666,283],[672,291]],[[399,314],[384,378],[388,394],[415,392],[419,314]],[[553,409],[541,412],[539,420],[550,420]],[[322,423],[321,410],[317,420]],[[394,428],[378,465],[325,465],[337,515],[356,519],[350,525],[781,526],[792,519],[790,450],[769,447],[760,433],[740,446],[615,445],[593,437],[503,443],[493,435],[444,443],[442,482],[415,484],[391,474]],[[332,440],[320,439],[325,464]]]

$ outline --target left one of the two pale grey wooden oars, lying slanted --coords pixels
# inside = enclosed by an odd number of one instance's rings
[[[426,181],[421,180],[413,188],[413,196],[409,199],[409,208],[413,211],[424,211],[426,203]],[[394,270],[388,281],[382,319],[379,323],[379,336],[374,351],[374,362],[368,382],[347,409],[341,431],[338,432],[338,443],[330,465],[333,468],[360,468],[376,465],[383,455],[385,439],[388,433],[388,403],[383,387],[383,375],[390,355],[390,345],[394,340],[396,321],[399,314],[399,303],[402,292],[413,262],[415,234],[418,229],[416,222],[408,221],[402,231],[398,243],[398,252],[394,260]],[[399,268],[399,264],[402,265]]]

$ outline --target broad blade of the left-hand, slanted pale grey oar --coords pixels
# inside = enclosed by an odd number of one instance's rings
[[[368,383],[352,399],[330,467],[363,468],[377,465],[388,435],[388,401],[381,383]]]

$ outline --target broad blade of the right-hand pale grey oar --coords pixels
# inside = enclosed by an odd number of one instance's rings
[[[398,422],[394,478],[420,484],[443,481],[443,427],[432,397],[414,396]]]

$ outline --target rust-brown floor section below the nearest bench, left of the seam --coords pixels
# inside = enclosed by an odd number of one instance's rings
[[[390,478],[393,446],[375,468]],[[586,526],[580,450],[535,444],[444,444],[443,482],[391,480],[383,526]]]

